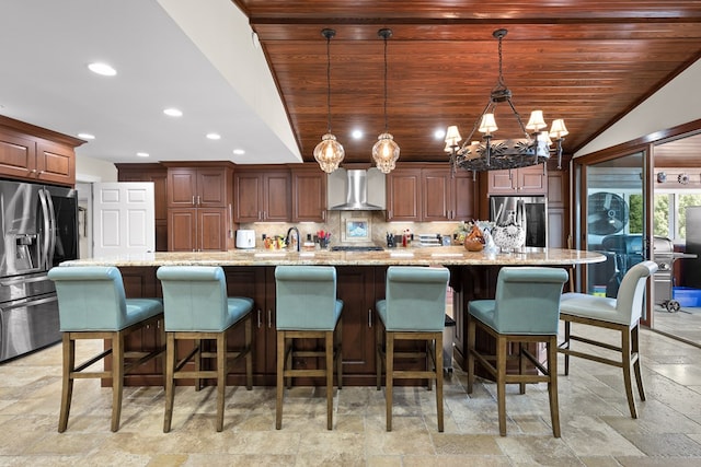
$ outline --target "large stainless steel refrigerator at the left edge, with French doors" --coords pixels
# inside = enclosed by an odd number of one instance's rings
[[[48,270],[78,258],[76,190],[0,180],[0,361],[60,340]]]

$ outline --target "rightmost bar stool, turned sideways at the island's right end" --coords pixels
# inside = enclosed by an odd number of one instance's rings
[[[560,303],[560,319],[565,324],[565,338],[560,343],[559,352],[565,355],[565,375],[570,374],[570,357],[579,357],[594,362],[613,365],[623,370],[623,385],[625,397],[632,418],[637,418],[635,399],[633,398],[633,383],[631,369],[635,373],[635,383],[640,399],[645,400],[643,377],[640,371],[640,318],[645,303],[645,285],[647,278],[657,271],[655,261],[643,261],[625,272],[618,289],[616,299],[587,295],[584,293],[565,293]],[[596,340],[582,335],[572,334],[572,324],[613,329],[619,332],[619,343]],[[584,350],[572,350],[572,341],[578,341],[594,348],[606,349],[618,353],[617,360],[602,355],[600,352],[588,353]],[[589,348],[590,349],[590,348]]]

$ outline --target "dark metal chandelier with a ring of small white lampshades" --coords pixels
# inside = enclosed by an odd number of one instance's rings
[[[470,136],[462,145],[462,140],[457,126],[448,127],[446,131],[445,151],[450,153],[452,168],[461,167],[466,171],[483,172],[504,168],[518,168],[537,165],[550,159],[550,147],[554,140],[556,143],[558,168],[562,168],[562,141],[567,135],[563,119],[553,120],[550,132],[543,130],[548,125],[543,120],[542,110],[533,110],[526,125],[521,116],[512,103],[512,91],[504,83],[502,70],[502,39],[506,36],[506,30],[496,30],[492,35],[498,39],[499,75],[496,85],[490,94],[482,115],[474,122]],[[494,115],[501,103],[507,103],[520,129],[522,137],[514,139],[494,139],[494,132],[498,130]],[[482,133],[482,141],[473,141],[474,131]]]

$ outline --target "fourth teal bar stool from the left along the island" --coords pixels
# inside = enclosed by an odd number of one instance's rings
[[[394,380],[427,378],[428,389],[436,381],[438,431],[444,430],[443,332],[446,324],[446,290],[450,272],[446,268],[391,266],[387,269],[384,300],[376,304],[384,328],[377,326],[377,389],[384,367],[387,431],[392,431],[392,389]],[[398,340],[423,341],[426,351],[397,351]],[[427,369],[395,370],[394,359],[429,358]]]

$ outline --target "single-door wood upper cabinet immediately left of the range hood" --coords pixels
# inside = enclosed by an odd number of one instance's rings
[[[291,222],[326,221],[326,174],[317,164],[292,167]]]

